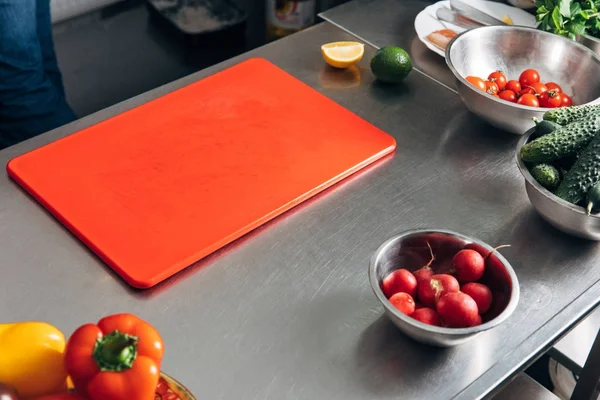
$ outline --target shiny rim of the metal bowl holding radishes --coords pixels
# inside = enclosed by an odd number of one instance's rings
[[[460,233],[453,232],[450,230],[446,230],[446,229],[425,229],[425,228],[412,229],[412,230],[408,230],[408,231],[399,233],[398,235],[386,240],[381,246],[379,246],[379,248],[375,251],[375,253],[371,257],[371,262],[369,263],[369,282],[371,283],[371,288],[373,289],[375,296],[377,296],[377,298],[379,299],[381,304],[383,304],[383,306],[387,309],[387,311],[393,313],[396,317],[403,320],[404,322],[406,322],[410,325],[413,325],[423,331],[437,333],[437,334],[444,334],[444,335],[449,335],[449,336],[464,336],[464,335],[469,335],[469,334],[476,334],[476,333],[491,329],[491,328],[501,324],[502,322],[504,322],[513,313],[513,311],[517,308],[517,304],[519,303],[519,297],[520,297],[521,292],[519,289],[519,280],[517,278],[517,274],[515,273],[514,269],[510,265],[510,263],[504,258],[504,256],[502,256],[502,254],[500,254],[498,252],[496,252],[495,255],[498,257],[500,262],[502,262],[502,264],[506,268],[506,271],[511,280],[512,290],[511,290],[510,300],[508,301],[508,304],[506,305],[506,308],[504,309],[504,311],[502,311],[500,313],[500,315],[498,315],[496,318],[494,318],[484,324],[474,326],[471,328],[444,328],[444,327],[440,327],[440,326],[433,326],[433,325],[422,323],[412,317],[409,317],[408,315],[400,312],[396,307],[394,307],[389,302],[389,300],[383,294],[383,291],[381,290],[381,287],[379,285],[379,279],[377,278],[377,275],[375,272],[375,266],[377,265],[377,263],[378,263],[379,259],[382,257],[382,255],[385,253],[386,249],[389,246],[391,246],[393,243],[395,243],[396,241],[401,240],[405,237],[414,235],[414,234],[427,234],[427,233],[443,233],[443,234],[447,234],[450,236],[455,236],[461,240],[464,240],[465,242],[478,244],[489,251],[494,250],[493,247],[491,247],[490,245],[488,245],[485,242],[482,242],[481,240],[473,239],[471,237],[468,237],[468,236],[465,236],[465,235],[462,235]]]

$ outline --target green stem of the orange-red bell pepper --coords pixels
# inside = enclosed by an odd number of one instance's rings
[[[119,331],[96,341],[93,357],[100,371],[120,372],[133,367],[138,338]]]

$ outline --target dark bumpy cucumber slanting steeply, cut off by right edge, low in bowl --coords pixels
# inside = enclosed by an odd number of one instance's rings
[[[581,153],[573,168],[556,189],[556,195],[569,203],[585,200],[592,186],[600,182],[600,135]]]

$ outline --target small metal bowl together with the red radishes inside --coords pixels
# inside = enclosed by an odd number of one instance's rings
[[[369,280],[407,336],[457,346],[498,326],[517,307],[519,281],[502,247],[448,230],[410,230],[377,249]]]

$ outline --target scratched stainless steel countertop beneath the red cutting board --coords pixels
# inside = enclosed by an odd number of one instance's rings
[[[398,141],[393,157],[148,291],[128,288],[2,174],[1,320],[47,320],[70,334],[105,314],[138,314],[164,336],[164,371],[203,399],[471,400],[546,348],[600,301],[598,247],[535,214],[514,161],[517,138],[472,117],[453,92],[417,73],[397,87],[374,83],[372,48],[357,69],[326,68],[319,46],[348,39],[320,24],[0,152],[4,164],[250,56]],[[416,227],[513,245],[503,254],[522,298],[504,325],[444,350],[410,341],[383,317],[369,257]]]

